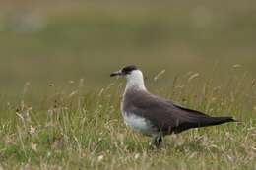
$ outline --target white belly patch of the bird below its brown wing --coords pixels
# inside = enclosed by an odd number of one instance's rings
[[[132,128],[135,131],[151,136],[156,134],[156,131],[154,130],[150,122],[146,121],[145,118],[142,118],[135,114],[126,113],[123,113],[123,118],[126,126]]]

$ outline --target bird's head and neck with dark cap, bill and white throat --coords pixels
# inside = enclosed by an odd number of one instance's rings
[[[126,90],[130,88],[146,90],[143,73],[135,65],[126,66],[123,69],[112,73],[110,76],[125,76],[127,80]]]

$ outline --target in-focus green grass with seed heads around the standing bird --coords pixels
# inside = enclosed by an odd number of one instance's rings
[[[255,97],[255,84],[230,78],[218,86],[206,80],[197,85],[196,79],[198,74],[190,73],[176,79],[171,89],[154,92],[211,115],[232,115],[241,122],[167,137],[160,149],[153,149],[148,137],[125,127],[119,111],[123,88],[119,81],[86,94],[83,81],[70,83],[65,90],[51,85],[52,92],[36,105],[30,102],[25,85],[21,101],[2,102],[0,167],[255,169],[256,110],[245,102],[247,94]]]

